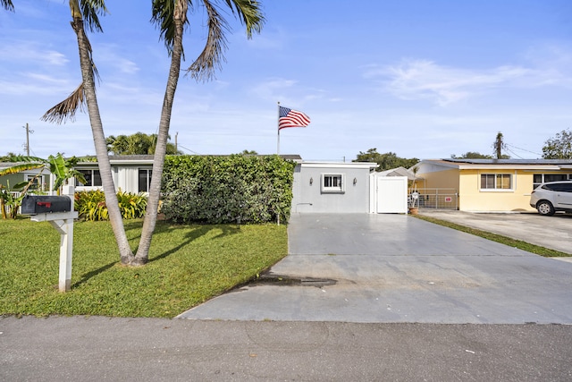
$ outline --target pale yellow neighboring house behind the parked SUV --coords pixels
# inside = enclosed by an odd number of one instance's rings
[[[572,180],[571,159],[424,159],[410,170],[423,178],[416,181],[422,199],[441,191],[455,195],[459,210],[475,212],[534,211],[536,186]]]

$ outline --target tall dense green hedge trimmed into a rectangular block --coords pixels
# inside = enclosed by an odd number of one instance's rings
[[[287,221],[294,166],[278,156],[168,156],[161,212],[178,223]]]

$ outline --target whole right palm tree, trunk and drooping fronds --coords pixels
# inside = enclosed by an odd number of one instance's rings
[[[198,81],[210,80],[214,70],[221,65],[223,51],[226,48],[224,30],[228,30],[227,22],[218,11],[217,3],[224,3],[231,8],[231,13],[237,16],[245,25],[248,38],[253,31],[260,32],[264,23],[260,4],[257,0],[201,0],[205,6],[208,26],[208,37],[205,47],[197,60],[193,62],[186,72]],[[181,71],[181,57],[183,54],[182,38],[185,24],[189,23],[187,13],[197,9],[192,0],[153,0],[152,21],[159,26],[161,38],[171,55],[171,67],[164,92],[161,120],[156,142],[155,160],[153,161],[153,174],[149,185],[149,199],[145,222],[139,240],[139,247],[134,259],[135,264],[145,264],[151,246],[151,238],[156,225],[157,208],[161,191],[161,174],[163,174],[164,157],[171,124],[172,101],[179,82]]]

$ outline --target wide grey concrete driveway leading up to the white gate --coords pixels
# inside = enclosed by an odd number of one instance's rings
[[[296,215],[289,245],[271,269],[274,283],[244,286],[179,317],[572,324],[572,263],[412,216]]]

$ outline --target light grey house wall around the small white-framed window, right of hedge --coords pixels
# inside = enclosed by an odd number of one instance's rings
[[[294,169],[292,213],[369,213],[369,174],[376,165],[301,163]],[[324,189],[324,177],[341,175],[341,191]]]

